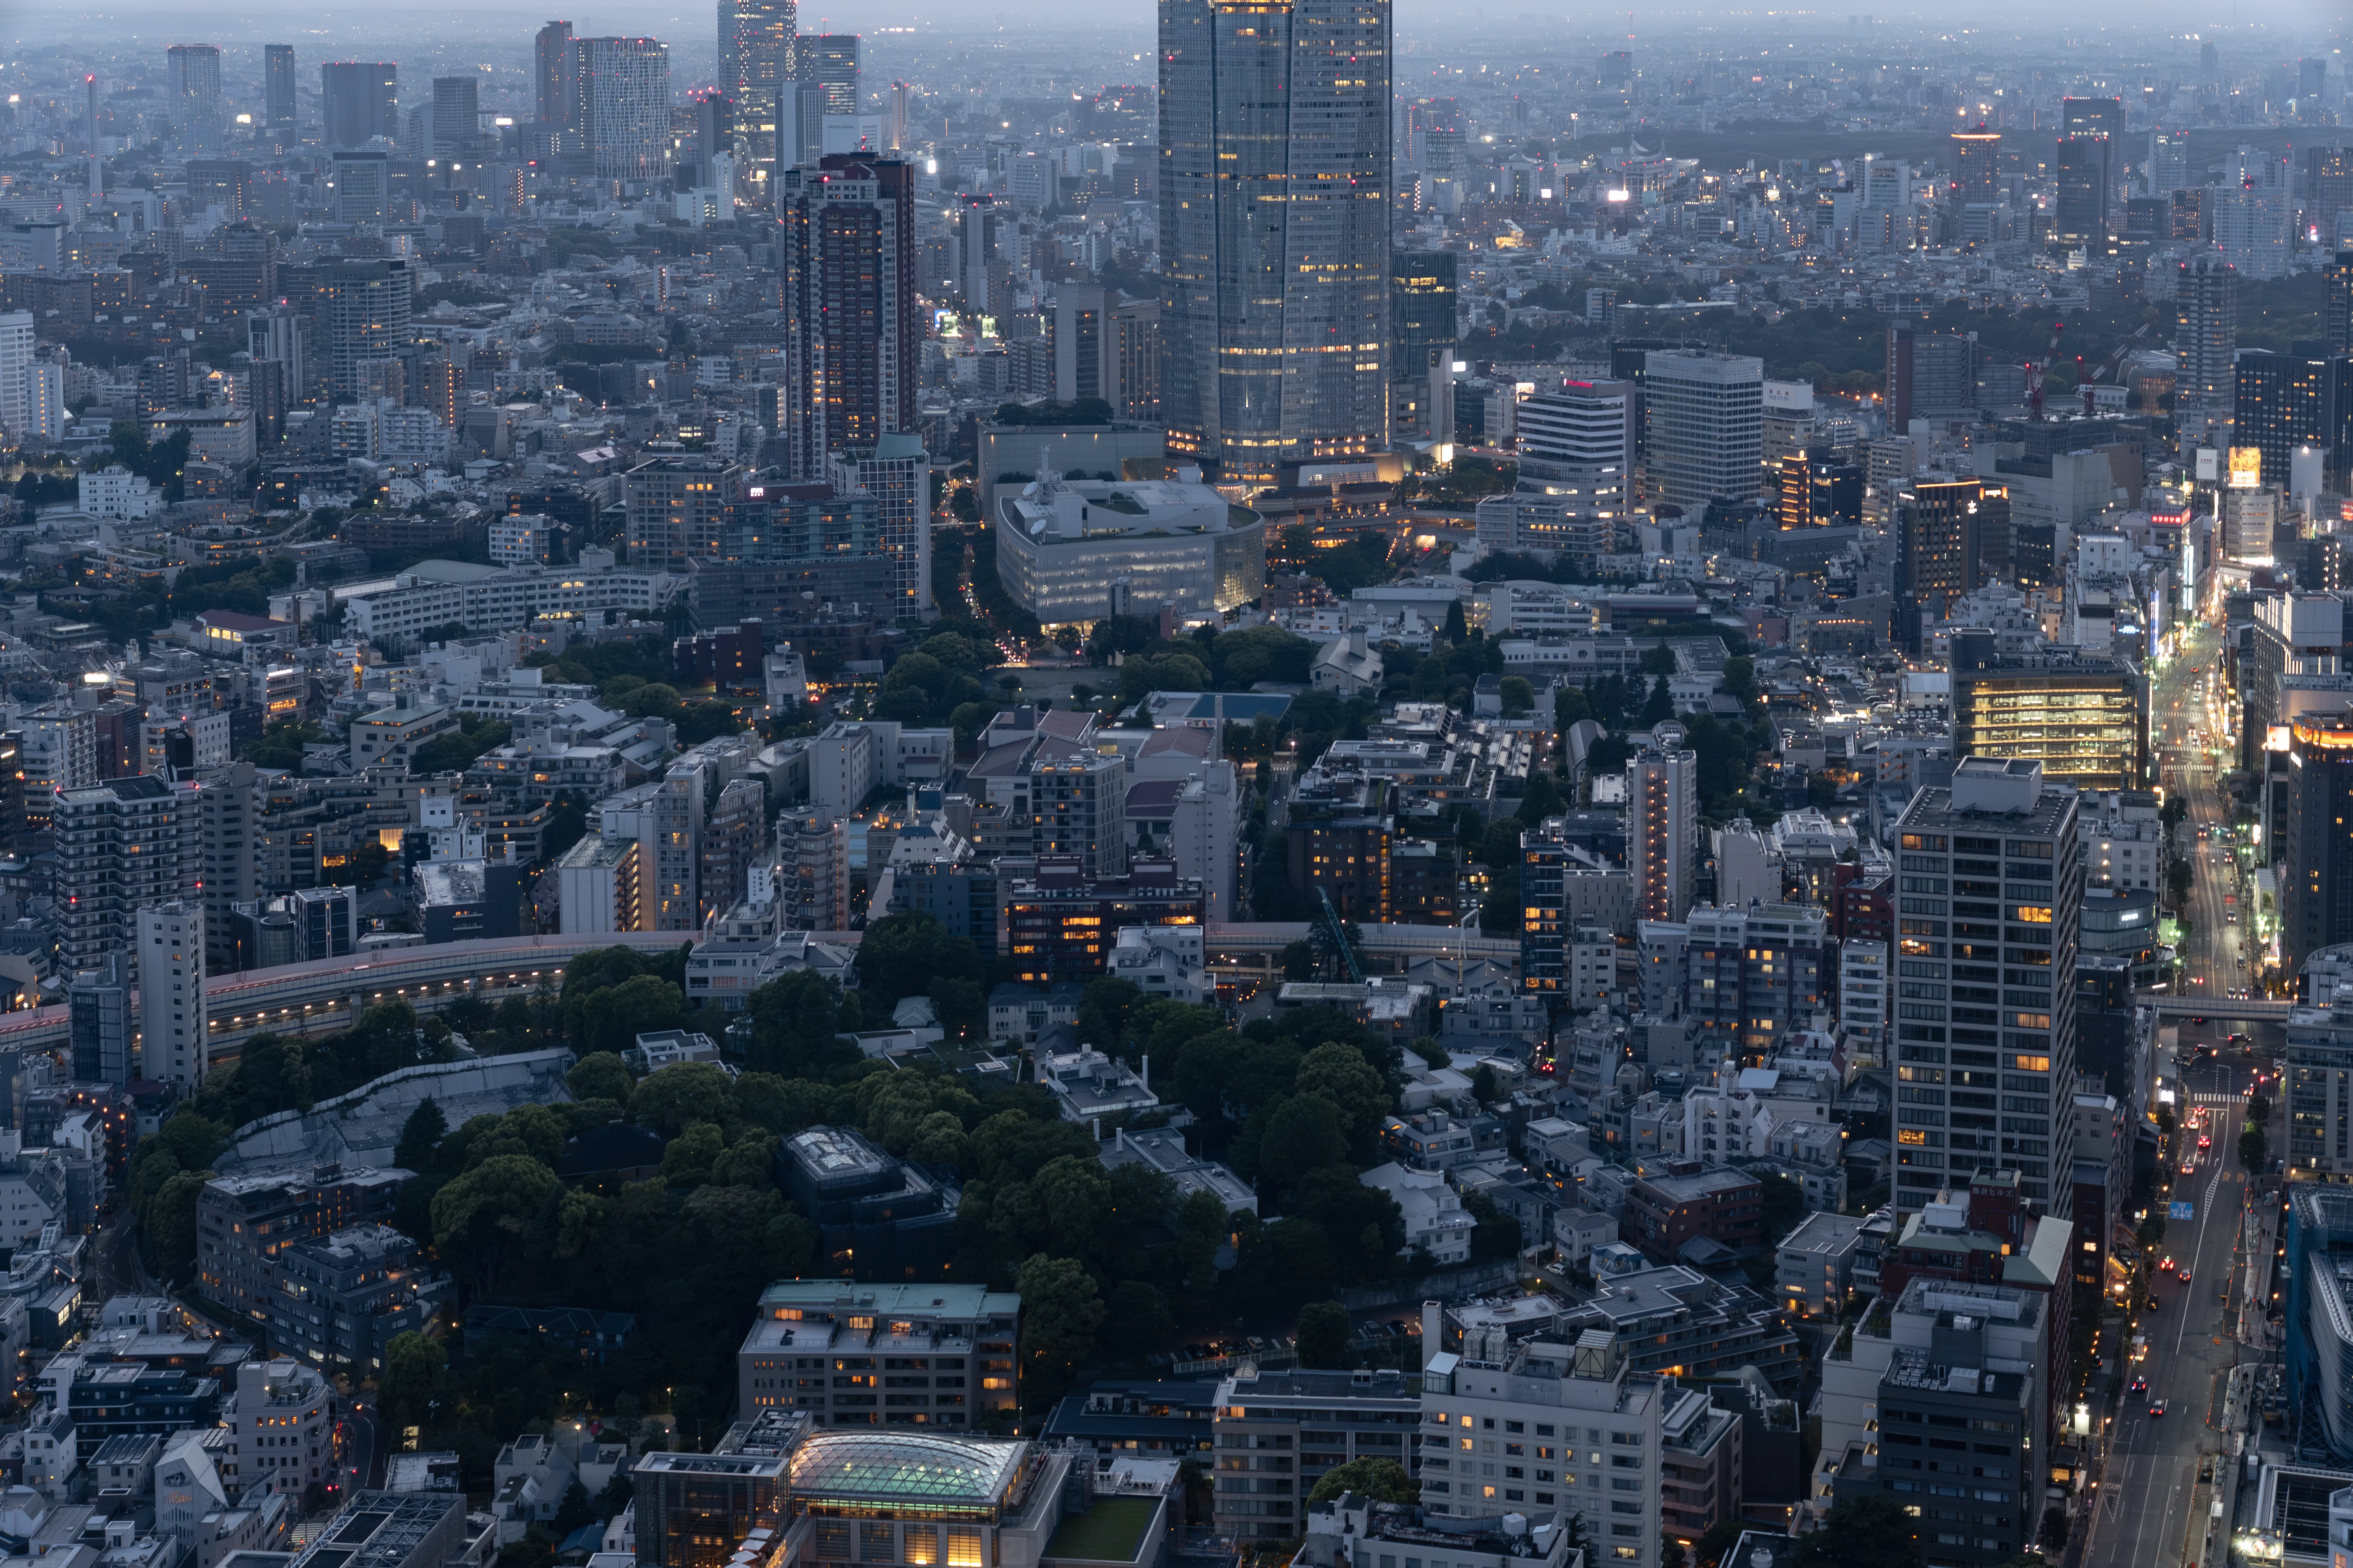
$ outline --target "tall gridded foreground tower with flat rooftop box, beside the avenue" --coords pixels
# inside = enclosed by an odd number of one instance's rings
[[[1897,823],[1899,1213],[1995,1168],[2073,1213],[2075,802],[2038,762],[1962,757]]]

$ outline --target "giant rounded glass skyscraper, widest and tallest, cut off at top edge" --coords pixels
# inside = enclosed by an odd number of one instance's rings
[[[1162,0],[1169,447],[1228,484],[1388,444],[1388,0]]]

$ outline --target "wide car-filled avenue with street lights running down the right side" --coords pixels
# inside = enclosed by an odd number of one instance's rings
[[[2195,858],[2195,882],[2184,910],[2191,924],[2181,943],[2184,997],[2228,997],[2233,987],[2247,985],[2247,971],[2240,969],[2245,926],[2226,919],[2231,905],[2224,896],[2233,886],[2228,851],[2212,837],[2198,837],[2200,825],[2212,835],[2228,823],[2221,795],[2228,755],[2217,750],[2228,726],[2209,675],[2212,663],[2214,630],[2198,625],[2181,656],[2151,686],[2162,783],[2167,797],[2179,792],[2188,799],[2188,820],[2177,842]],[[2205,691],[2198,689],[2200,675]],[[2254,1039],[2245,1044],[2228,1039],[2233,1027],[2240,1025],[2193,1018],[2179,1030],[2186,1070],[2174,1114],[2181,1131],[2165,1150],[2172,1190],[2160,1201],[2193,1208],[2191,1218],[2167,1222],[2165,1241],[2148,1260],[2148,1293],[2160,1305],[2144,1309],[2122,1335],[2127,1345],[2134,1333],[2148,1340],[2146,1359],[2127,1371],[2127,1378],[2146,1375],[2148,1389],[2127,1394],[2108,1427],[2085,1568],[2184,1568],[2209,1561],[2202,1537],[2214,1490],[2200,1483],[2200,1465],[2221,1479],[2224,1495],[2233,1483],[2233,1460],[2219,1429],[2224,1382],[2242,1356],[2261,1359],[2259,1352],[2242,1349],[2238,1316],[2226,1307],[2249,1192],[2247,1173],[2238,1166],[2238,1133],[2257,1065],[2278,1048],[2278,1025],[2249,1027]],[[2217,1056],[2193,1063],[2198,1044],[2212,1044]],[[2209,1147],[2198,1147],[2200,1135]],[[2158,1272],[2165,1260],[2172,1260],[2174,1272]],[[2179,1279],[2179,1267],[2188,1267],[2188,1281]],[[2151,1415],[2158,1399],[2165,1401],[2165,1415]]]

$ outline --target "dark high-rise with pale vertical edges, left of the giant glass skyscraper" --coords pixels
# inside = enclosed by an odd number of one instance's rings
[[[915,165],[835,153],[779,176],[779,270],[791,461],[821,477],[828,454],[915,428],[922,315],[915,296]]]

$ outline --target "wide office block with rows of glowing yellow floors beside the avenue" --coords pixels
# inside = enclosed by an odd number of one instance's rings
[[[1995,654],[1991,632],[1953,632],[1951,679],[1955,757],[2033,762],[2078,790],[2148,788],[2148,682],[2120,658]]]

